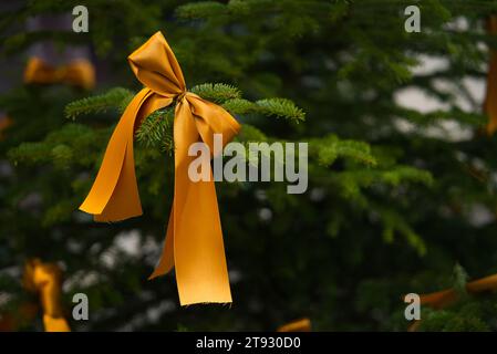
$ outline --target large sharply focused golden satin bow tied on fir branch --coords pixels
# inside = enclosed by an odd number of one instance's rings
[[[161,261],[149,279],[175,268],[182,305],[231,302],[213,173],[208,181],[191,181],[188,166],[194,157],[188,156],[188,148],[203,140],[213,152],[214,134],[222,134],[225,146],[240,125],[220,106],[186,91],[182,69],[161,32],[133,52],[128,61],[145,88],[134,96],[117,123],[80,209],[93,214],[95,221],[142,215],[133,158],[134,132],[152,112],[176,102],[173,208]]]

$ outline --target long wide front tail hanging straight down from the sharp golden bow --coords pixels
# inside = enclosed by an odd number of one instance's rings
[[[195,157],[188,148],[199,134],[189,103],[176,106],[174,260],[182,305],[231,302],[221,223],[216,198],[210,156],[209,180],[193,181],[188,168]]]

